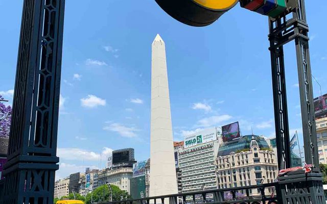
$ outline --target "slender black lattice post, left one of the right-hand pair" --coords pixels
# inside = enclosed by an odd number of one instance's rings
[[[291,167],[290,135],[287,112],[287,95],[284,65],[284,49],[278,45],[281,39],[280,33],[274,33],[274,23],[276,27],[281,24],[281,19],[273,22],[269,20],[270,28],[270,57],[272,73],[272,91],[274,101],[275,131],[278,169]]]

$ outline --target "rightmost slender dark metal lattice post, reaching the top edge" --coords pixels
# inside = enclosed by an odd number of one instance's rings
[[[293,16],[298,19],[298,26],[294,29],[294,33],[296,35],[295,47],[305,158],[307,164],[314,164],[316,168],[319,168],[319,155],[309,53],[309,28],[306,21],[305,4],[303,0],[299,1],[299,8],[296,12],[293,13]]]

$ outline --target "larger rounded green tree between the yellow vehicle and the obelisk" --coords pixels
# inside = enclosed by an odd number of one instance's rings
[[[121,196],[123,196],[123,200],[131,199],[132,197],[128,194],[126,191],[122,191],[118,186],[110,185],[112,190],[112,201],[119,201],[122,199]],[[103,192],[104,192],[104,201],[109,201],[109,188],[107,185],[100,186],[99,188],[95,189],[93,193],[88,193],[86,195],[86,204],[91,203],[91,198],[93,199],[93,202],[101,202],[103,201]]]

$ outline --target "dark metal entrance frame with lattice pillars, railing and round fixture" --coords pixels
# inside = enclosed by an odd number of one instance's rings
[[[322,177],[318,169],[318,149],[314,119],[313,90],[309,55],[309,27],[304,0],[155,0],[178,21],[196,27],[212,24],[240,3],[241,7],[269,17],[273,104],[279,169],[290,167],[289,123],[283,45],[295,40],[306,163],[313,171],[297,171],[278,177],[278,182],[162,195],[111,203],[177,203],[177,198],[201,195],[215,203],[325,203]],[[12,125],[5,180],[0,181],[0,203],[53,203],[61,77],[65,0],[25,0],[18,48]],[[287,20],[286,16],[289,17]],[[276,193],[265,194],[275,187]],[[261,197],[249,197],[257,189]],[[238,200],[236,192],[245,190]],[[226,200],[231,192],[232,200]]]

